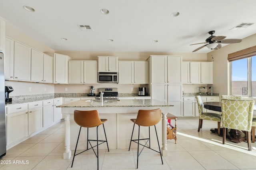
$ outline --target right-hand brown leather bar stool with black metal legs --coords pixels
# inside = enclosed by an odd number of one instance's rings
[[[129,146],[129,150],[130,150],[132,141],[135,142],[135,143],[138,143],[137,169],[138,169],[139,156],[140,156],[140,153],[142,152],[142,150],[144,149],[144,147],[146,147],[148,149],[151,149],[151,150],[154,150],[154,149],[150,148],[150,126],[154,125],[155,130],[156,130],[156,124],[161,120],[161,117],[162,117],[161,109],[152,109],[152,110],[139,110],[137,118],[136,119],[130,119],[134,123],[134,125],[137,124],[139,126],[138,139],[132,140],[132,137],[131,137],[130,146]],[[132,135],[133,135],[133,131],[134,131],[134,125],[133,125],[133,129],[132,129]],[[148,138],[140,139],[140,126],[148,127],[148,134],[149,134]],[[157,139],[159,151],[157,151],[157,150],[154,150],[154,151],[160,153],[162,164],[164,164],[163,159],[162,159],[162,155],[161,155],[161,151],[160,151],[157,132],[156,132],[156,139]],[[142,144],[140,144],[140,140],[147,140],[147,141],[146,141],[145,145],[142,145]],[[149,141],[149,147],[146,146],[148,141]],[[139,153],[139,145],[143,146],[140,153]]]

